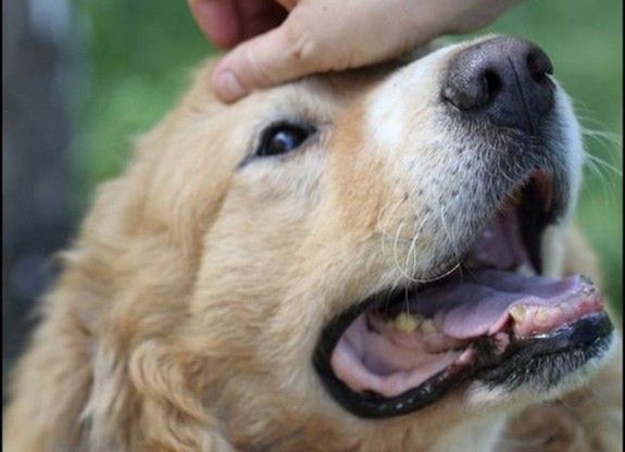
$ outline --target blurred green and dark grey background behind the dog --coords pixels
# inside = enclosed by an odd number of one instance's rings
[[[183,0],[2,0],[2,369],[32,328],[93,188],[215,54]],[[542,47],[575,100],[589,160],[577,222],[622,312],[623,10],[529,0],[485,32]],[[484,33],[484,32],[482,32]]]

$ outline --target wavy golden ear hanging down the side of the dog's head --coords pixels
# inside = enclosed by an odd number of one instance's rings
[[[202,394],[192,392],[196,363],[172,342],[192,292],[191,251],[201,252],[201,230],[218,203],[218,190],[213,200],[198,188],[205,181],[187,176],[179,183],[180,161],[193,158],[180,149],[193,142],[176,142],[177,153],[167,148],[178,121],[177,114],[165,118],[139,142],[133,166],[104,187],[84,228],[83,246],[103,261],[90,284],[105,286],[110,297],[90,309],[102,315],[83,412],[89,441],[102,449],[113,440],[115,450],[233,450],[202,406]]]

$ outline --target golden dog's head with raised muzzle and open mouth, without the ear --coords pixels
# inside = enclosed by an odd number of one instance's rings
[[[583,149],[551,72],[489,37],[223,105],[200,71],[135,214],[185,250],[170,332],[236,444],[428,445],[586,381],[613,337],[562,275]]]

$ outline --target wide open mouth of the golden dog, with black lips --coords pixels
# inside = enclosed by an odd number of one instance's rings
[[[314,365],[360,417],[423,409],[479,380],[548,388],[604,353],[612,325],[589,278],[540,276],[549,179],[513,190],[443,278],[374,294],[324,329]]]

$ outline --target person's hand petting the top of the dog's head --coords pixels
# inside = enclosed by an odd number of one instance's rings
[[[213,73],[225,101],[304,75],[391,59],[470,33],[521,0],[188,0],[198,25],[232,49]],[[236,47],[235,47],[236,46]]]

